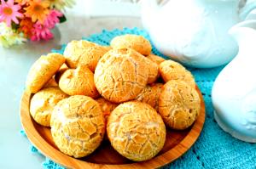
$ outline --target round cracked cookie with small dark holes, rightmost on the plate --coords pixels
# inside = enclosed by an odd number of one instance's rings
[[[160,93],[159,113],[166,125],[177,130],[190,127],[201,110],[201,99],[194,87],[180,80],[166,82]]]

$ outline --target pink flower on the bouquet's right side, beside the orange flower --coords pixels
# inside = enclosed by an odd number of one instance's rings
[[[63,14],[55,9],[51,10],[47,15],[47,18],[44,21],[44,26],[52,29],[55,27],[55,24],[59,23],[59,17],[63,16]]]

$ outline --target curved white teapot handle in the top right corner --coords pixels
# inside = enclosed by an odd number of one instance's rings
[[[256,20],[256,0],[247,0],[247,3],[240,10],[241,20]]]

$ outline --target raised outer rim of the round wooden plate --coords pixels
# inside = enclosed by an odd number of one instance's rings
[[[27,138],[30,142],[39,149],[39,151],[47,156],[49,159],[55,161],[61,166],[65,166],[67,168],[112,168],[112,169],[127,169],[127,168],[157,168],[160,166],[166,166],[167,164],[175,161],[178,157],[183,155],[187,150],[191,148],[195,141],[199,137],[202,127],[205,122],[205,104],[201,95],[201,91],[198,87],[196,87],[197,92],[200,94],[201,98],[201,112],[198,116],[197,120],[191,127],[188,135],[183,138],[180,144],[177,144],[172,149],[166,151],[166,153],[162,155],[158,155],[149,161],[142,162],[134,162],[131,164],[122,164],[122,165],[109,165],[109,164],[95,164],[87,161],[80,161],[68,155],[61,153],[61,151],[52,147],[48,142],[41,137],[38,133],[37,129],[33,125],[33,120],[31,115],[29,114],[29,99],[31,93],[25,91],[22,95],[20,101],[20,121],[23,129],[26,132]],[[51,153],[49,153],[51,152]],[[173,155],[175,153],[175,155]]]

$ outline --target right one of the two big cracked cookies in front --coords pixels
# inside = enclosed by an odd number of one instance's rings
[[[147,161],[157,155],[166,141],[166,126],[148,104],[119,104],[108,117],[108,138],[113,149],[131,161]]]

